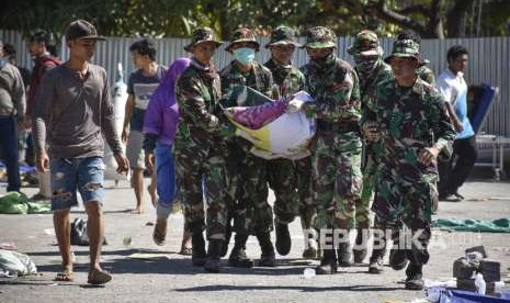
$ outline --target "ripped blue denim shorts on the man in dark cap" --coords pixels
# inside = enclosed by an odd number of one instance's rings
[[[77,190],[84,203],[104,199],[104,164],[101,157],[52,159],[52,211],[78,205]]]

